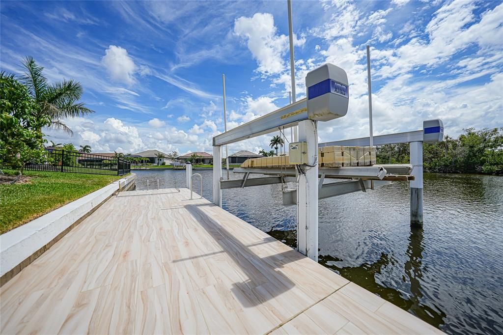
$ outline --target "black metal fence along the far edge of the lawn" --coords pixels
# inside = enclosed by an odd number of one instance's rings
[[[55,149],[47,150],[42,160],[27,163],[25,170],[122,176],[131,172],[131,163],[114,156]]]

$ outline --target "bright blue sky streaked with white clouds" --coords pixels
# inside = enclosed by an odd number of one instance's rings
[[[96,113],[66,120],[94,152],[211,152],[228,127],[288,104],[286,1],[13,2],[1,6],[1,68],[33,56],[50,81],[73,78]],[[293,0],[297,99],[306,73],[331,62],[350,81],[347,116],[319,125],[319,140],[366,136],[365,45],[371,45],[374,133],[503,126],[500,1]],[[270,135],[229,147],[258,151]]]

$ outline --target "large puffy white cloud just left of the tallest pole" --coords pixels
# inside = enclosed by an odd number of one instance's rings
[[[240,17],[234,22],[234,33],[247,40],[248,49],[259,64],[258,70],[264,74],[279,73],[285,68],[282,54],[288,47],[288,37],[276,32],[273,15],[269,13]]]

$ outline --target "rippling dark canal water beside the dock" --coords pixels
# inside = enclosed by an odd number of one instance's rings
[[[212,171],[194,172],[211,201]],[[185,187],[185,171],[134,173],[137,190]],[[319,262],[447,333],[503,333],[503,178],[425,174],[423,229],[410,228],[408,193],[395,182],[320,200]],[[223,190],[223,207],[295,247],[280,185]]]

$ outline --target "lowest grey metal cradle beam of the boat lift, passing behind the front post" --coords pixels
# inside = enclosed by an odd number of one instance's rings
[[[388,181],[374,181],[374,188],[389,185]],[[337,197],[354,192],[367,192],[370,190],[370,180],[348,180],[344,182],[323,184],[318,193],[318,199]],[[283,192],[283,205],[291,206],[297,204],[297,190],[287,190]]]

